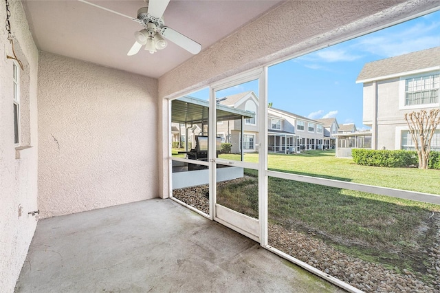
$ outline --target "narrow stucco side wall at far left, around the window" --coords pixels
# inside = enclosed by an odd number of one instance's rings
[[[0,292],[13,292],[34,235],[37,209],[37,113],[36,78],[38,51],[32,40],[20,1],[10,2],[10,24],[17,56],[25,65],[21,72],[21,145],[32,146],[16,157],[12,112],[12,47],[5,30],[5,4],[0,6]],[[18,158],[18,159],[17,159]],[[23,208],[19,217],[19,206]]]

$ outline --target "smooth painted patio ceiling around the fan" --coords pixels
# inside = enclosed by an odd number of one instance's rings
[[[126,56],[135,21],[74,0],[23,0],[30,29],[39,50],[158,78],[193,55],[174,43],[155,54],[140,50]],[[130,17],[144,1],[91,1]],[[202,45],[202,51],[277,6],[278,0],[171,0],[165,25]]]

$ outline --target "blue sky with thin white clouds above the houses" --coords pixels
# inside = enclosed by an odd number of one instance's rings
[[[355,80],[364,64],[437,46],[440,11],[270,67],[267,99],[274,108],[311,119],[336,117],[362,129],[362,84]],[[217,97],[257,88],[251,82]],[[207,98],[207,93],[191,96]]]

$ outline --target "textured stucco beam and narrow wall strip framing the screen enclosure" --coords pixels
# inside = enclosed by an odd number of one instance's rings
[[[159,78],[159,98],[172,98],[248,69],[338,43],[362,32],[437,8],[438,0],[286,1],[259,19]],[[166,103],[159,105],[162,139],[168,139]],[[164,119],[162,119],[165,117]],[[168,176],[168,149],[159,153]],[[161,196],[169,194],[163,177]]]

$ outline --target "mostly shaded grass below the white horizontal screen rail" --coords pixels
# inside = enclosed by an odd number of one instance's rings
[[[219,204],[258,217],[257,174],[245,169],[245,175],[218,184]],[[426,272],[422,251],[432,246],[436,230],[428,218],[440,206],[275,177],[268,184],[272,224],[312,231],[338,250],[386,268]]]

